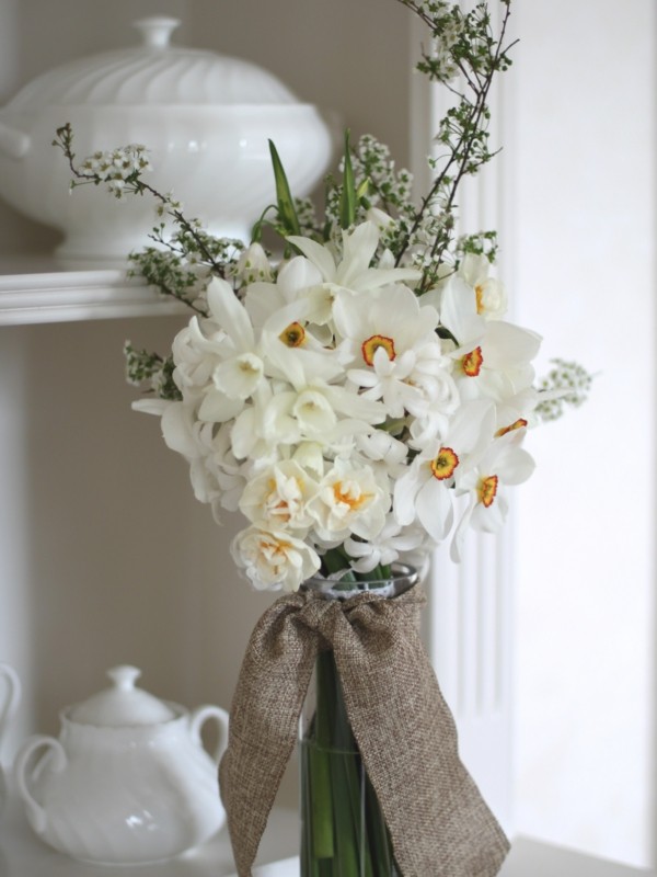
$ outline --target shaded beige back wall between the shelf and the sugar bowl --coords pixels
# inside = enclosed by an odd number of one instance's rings
[[[163,352],[181,321],[108,320],[25,330],[31,635],[36,722],[106,684],[118,663],[187,707],[230,705],[251,628],[270,602],[229,554],[157,418],[130,410],[126,338]]]

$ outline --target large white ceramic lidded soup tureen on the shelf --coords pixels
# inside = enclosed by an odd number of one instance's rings
[[[51,144],[67,122],[79,161],[141,144],[147,181],[173,192],[188,217],[218,237],[250,238],[275,201],[268,139],[295,195],[324,173],[332,135],[318,109],[247,61],[170,45],[175,19],[136,22],[141,46],[81,58],[37,77],[0,110],[0,196],[64,231],[65,261],[110,262],[151,241],[155,204],[80,186]]]

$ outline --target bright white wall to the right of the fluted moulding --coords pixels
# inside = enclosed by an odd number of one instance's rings
[[[519,0],[517,318],[598,373],[517,491],[521,832],[647,866],[654,779],[655,4]],[[654,864],[654,862],[652,863]]]

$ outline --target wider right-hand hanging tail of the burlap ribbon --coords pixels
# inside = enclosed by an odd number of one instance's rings
[[[388,613],[357,627],[343,626],[333,648],[401,873],[493,877],[509,843],[459,758],[454,720],[416,629],[400,629]]]

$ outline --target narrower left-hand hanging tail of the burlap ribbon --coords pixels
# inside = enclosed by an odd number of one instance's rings
[[[295,595],[280,597],[260,619],[231,706],[219,785],[239,877],[251,877],[316,656],[316,638],[295,624],[296,603]]]

